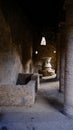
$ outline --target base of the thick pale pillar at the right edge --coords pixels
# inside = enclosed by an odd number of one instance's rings
[[[64,105],[63,114],[65,114],[69,118],[73,118],[73,107],[72,106],[68,106],[68,105]]]

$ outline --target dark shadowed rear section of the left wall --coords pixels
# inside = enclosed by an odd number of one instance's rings
[[[10,27],[13,48],[16,48],[23,64],[24,72],[32,71],[32,27],[22,9],[15,2],[0,1],[0,6]]]

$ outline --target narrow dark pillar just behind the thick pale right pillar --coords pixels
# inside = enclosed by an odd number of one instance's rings
[[[59,92],[64,92],[64,75],[65,75],[65,24],[61,24],[60,37],[60,86]]]

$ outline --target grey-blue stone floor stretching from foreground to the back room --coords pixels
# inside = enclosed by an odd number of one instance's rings
[[[0,130],[73,130],[73,119],[62,113],[58,87],[56,80],[43,80],[33,106],[0,107]]]

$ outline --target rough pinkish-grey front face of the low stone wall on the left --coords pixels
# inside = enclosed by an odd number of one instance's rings
[[[35,80],[26,85],[0,86],[0,106],[31,106],[35,102]]]

